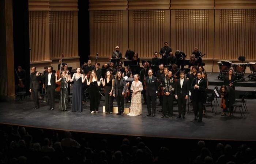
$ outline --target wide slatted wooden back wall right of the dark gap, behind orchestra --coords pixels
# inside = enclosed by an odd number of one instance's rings
[[[198,47],[208,71],[238,56],[256,61],[255,0],[89,0],[89,11],[91,58],[119,46],[150,59],[167,41],[187,57]]]

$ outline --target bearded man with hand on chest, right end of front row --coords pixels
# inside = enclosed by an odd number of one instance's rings
[[[202,78],[202,72],[201,73],[198,72],[197,78],[194,79],[191,84],[191,89],[194,91],[194,94],[193,94],[193,109],[195,114],[194,120],[197,122],[202,122],[203,102],[206,99],[205,97],[206,87],[207,87],[207,82],[204,78]],[[199,118],[197,116],[197,112],[199,112]]]

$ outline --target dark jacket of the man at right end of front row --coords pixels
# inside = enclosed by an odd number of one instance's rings
[[[194,79],[191,84],[191,90],[194,91],[193,99],[195,101],[205,101],[205,99],[206,99],[205,92],[206,92],[206,88],[207,88],[207,81],[205,79],[201,78],[199,84],[197,84],[197,83],[198,83],[198,79]],[[194,86],[196,84],[199,86],[198,89],[197,88],[194,89]]]

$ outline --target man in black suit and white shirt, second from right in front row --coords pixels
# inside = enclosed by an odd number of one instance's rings
[[[179,115],[177,118],[185,118],[186,102],[189,95],[189,82],[185,78],[185,72],[180,71],[180,79],[176,82],[175,98],[178,100]],[[182,115],[182,116],[181,116]]]

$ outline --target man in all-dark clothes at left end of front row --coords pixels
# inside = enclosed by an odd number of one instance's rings
[[[31,74],[30,74],[30,86],[29,86],[29,92],[32,95],[33,101],[34,101],[34,108],[39,108],[39,101],[38,101],[38,90],[39,90],[39,72],[36,71],[36,67],[31,67]]]

